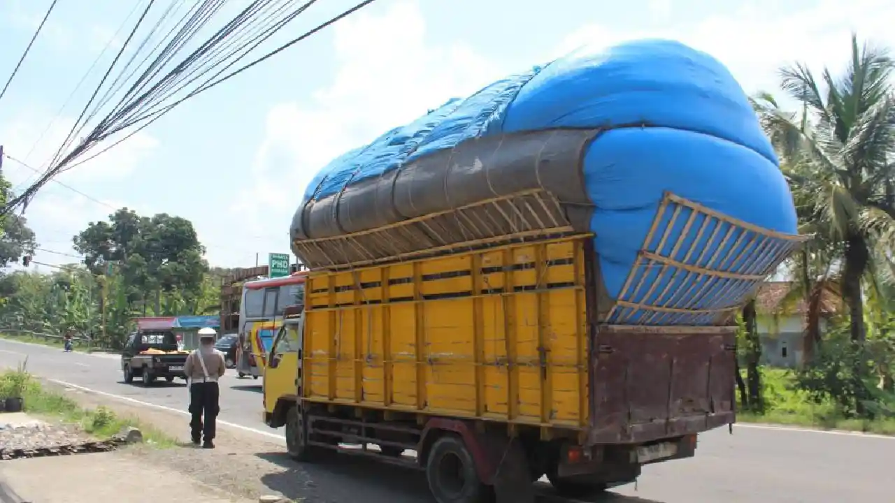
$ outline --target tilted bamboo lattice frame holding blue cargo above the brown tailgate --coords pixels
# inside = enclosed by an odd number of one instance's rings
[[[606,322],[728,324],[808,238],[763,229],[667,192]]]

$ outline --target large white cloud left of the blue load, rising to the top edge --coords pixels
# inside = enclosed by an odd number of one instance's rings
[[[416,1],[396,2],[380,14],[359,13],[339,22],[334,35],[333,81],[306,102],[270,110],[267,138],[252,166],[255,183],[243,198],[252,203],[233,209],[244,228],[279,225],[272,232],[282,237],[267,238],[271,250],[287,248],[288,225],[304,188],[329,160],[448,98],[472,94],[507,70],[463,44],[431,45]]]

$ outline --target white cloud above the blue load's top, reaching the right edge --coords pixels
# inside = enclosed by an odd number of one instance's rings
[[[652,0],[659,2],[660,0]],[[670,2],[669,2],[670,4]],[[669,5],[673,8],[673,5]],[[575,30],[554,55],[590,43],[605,45],[635,38],[672,38],[703,50],[726,64],[746,92],[777,89],[777,70],[799,61],[812,68],[848,61],[849,37],[895,47],[895,3],[886,0],[821,0],[797,11],[743,3],[727,15],[710,15],[694,25],[650,32],[616,31],[601,24]]]

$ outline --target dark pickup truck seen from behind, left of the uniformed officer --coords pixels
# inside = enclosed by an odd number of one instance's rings
[[[141,330],[127,339],[121,354],[124,382],[130,384],[135,377],[141,378],[144,387],[152,386],[156,379],[173,382],[186,379],[183,363],[187,352],[177,345],[174,332],[167,330]]]

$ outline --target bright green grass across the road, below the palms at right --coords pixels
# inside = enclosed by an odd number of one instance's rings
[[[820,430],[863,431],[895,435],[895,418],[862,420],[843,417],[832,403],[816,404],[795,386],[793,375],[783,369],[762,371],[765,413],[737,413],[738,422],[763,422]]]

